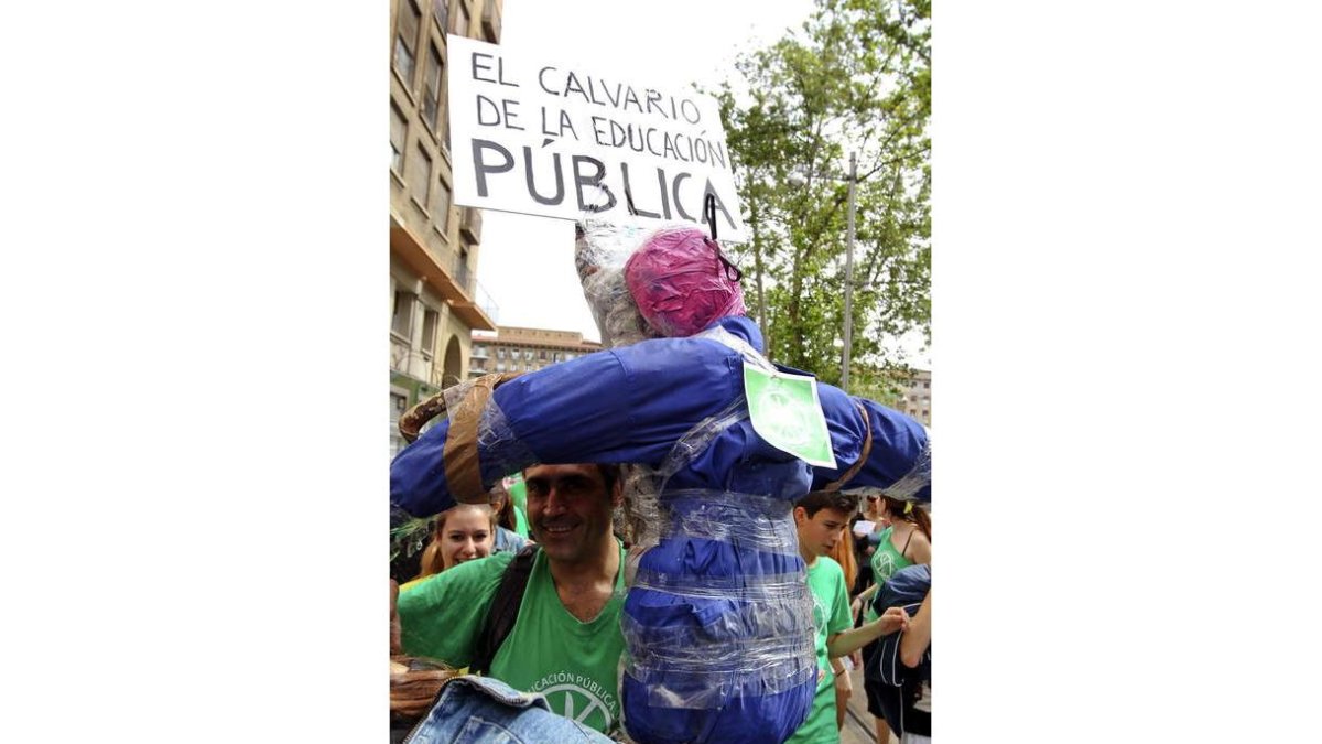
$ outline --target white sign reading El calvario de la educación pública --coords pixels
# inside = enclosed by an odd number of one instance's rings
[[[746,240],[714,98],[447,38],[455,204],[706,225],[710,193],[717,237]]]

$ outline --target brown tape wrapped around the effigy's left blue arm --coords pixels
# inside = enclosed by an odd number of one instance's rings
[[[497,372],[473,380],[472,387],[457,401],[456,410],[449,417],[449,430],[446,432],[446,482],[449,492],[461,503],[486,503],[486,488],[483,488],[481,469],[477,462],[477,425],[483,409],[494,389],[522,372]],[[422,426],[447,410],[444,391],[439,392],[399,417],[399,434],[412,442]]]

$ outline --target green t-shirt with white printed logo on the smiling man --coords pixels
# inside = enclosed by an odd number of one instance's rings
[[[541,692],[551,710],[603,733],[616,727],[620,610],[624,606],[624,547],[615,596],[590,622],[579,622],[555,593],[541,551],[509,637],[492,659],[490,676],[516,690]],[[453,667],[472,661],[486,608],[513,553],[461,563],[399,593],[405,653]]]

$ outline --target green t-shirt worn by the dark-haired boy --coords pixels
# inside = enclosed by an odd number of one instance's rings
[[[817,628],[817,694],[813,695],[813,710],[808,720],[795,731],[785,744],[808,744],[839,741],[839,728],[836,727],[836,675],[826,658],[826,638],[843,633],[854,626],[849,612],[849,589],[845,588],[845,571],[828,556],[818,556],[808,567],[808,589],[813,594],[813,625]]]

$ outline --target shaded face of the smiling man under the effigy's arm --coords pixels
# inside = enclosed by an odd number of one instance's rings
[[[546,556],[576,563],[592,559],[611,534],[615,494],[595,465],[538,465],[524,471],[527,522]]]

